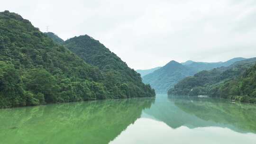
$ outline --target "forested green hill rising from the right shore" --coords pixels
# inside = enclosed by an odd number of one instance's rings
[[[202,71],[187,77],[168,91],[169,95],[209,95],[256,102],[256,58],[229,67]]]

